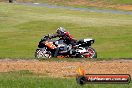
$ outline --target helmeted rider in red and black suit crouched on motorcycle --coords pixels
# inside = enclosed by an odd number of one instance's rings
[[[59,27],[56,30],[56,34],[51,36],[51,38],[56,37],[60,37],[66,44],[71,44],[72,46],[75,46],[77,43],[77,40],[75,40],[73,36],[68,31],[65,31],[65,29],[62,27]]]

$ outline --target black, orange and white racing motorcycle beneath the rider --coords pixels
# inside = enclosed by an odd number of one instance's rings
[[[35,51],[35,58],[97,58],[97,52],[91,47],[94,42],[91,38],[81,39],[77,41],[74,48],[61,38],[51,39],[48,34],[40,40]]]

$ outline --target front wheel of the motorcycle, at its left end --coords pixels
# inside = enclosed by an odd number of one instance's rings
[[[46,51],[45,49],[37,49],[35,52],[35,58],[51,58],[52,54],[50,51]]]

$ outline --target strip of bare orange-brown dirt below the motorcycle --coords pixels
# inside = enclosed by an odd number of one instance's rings
[[[77,69],[83,67],[89,74],[130,74],[132,76],[132,60],[112,61],[38,61],[38,60],[0,60],[0,72],[29,70],[37,74],[54,77],[75,76]]]

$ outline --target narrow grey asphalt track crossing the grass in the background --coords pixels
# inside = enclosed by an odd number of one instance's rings
[[[97,9],[97,8],[76,8],[70,6],[57,6],[57,5],[49,5],[46,3],[18,3],[20,5],[27,5],[27,6],[40,6],[40,7],[47,7],[47,8],[60,8],[60,9],[69,9],[69,10],[76,10],[76,11],[86,11],[86,12],[98,12],[98,13],[112,13],[112,14],[129,14],[132,15],[132,11],[124,11],[124,10],[108,10],[108,9]]]

